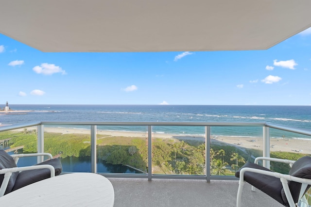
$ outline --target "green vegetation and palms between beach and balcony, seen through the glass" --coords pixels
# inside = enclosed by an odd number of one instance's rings
[[[1,139],[11,138],[10,147],[24,146],[23,152],[36,152],[36,130],[1,132]],[[98,161],[110,164],[129,165],[147,172],[147,143],[146,138],[138,137],[112,137],[98,135],[97,137]],[[52,155],[61,158],[77,157],[85,159],[90,157],[90,135],[88,134],[62,134],[44,133],[44,149]],[[153,141],[153,173],[154,174],[180,174],[205,175],[205,144],[193,140],[158,139]],[[262,151],[241,150],[230,145],[213,144],[210,149],[211,175],[234,175],[246,161],[254,161],[255,157],[262,155]],[[271,157],[281,159],[299,159],[305,156],[300,153],[271,152]],[[272,170],[279,173],[288,173],[289,166],[284,163],[271,162]]]

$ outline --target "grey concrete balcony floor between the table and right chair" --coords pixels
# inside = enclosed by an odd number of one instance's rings
[[[236,180],[108,178],[115,191],[115,207],[236,207]],[[283,207],[245,183],[242,207]]]

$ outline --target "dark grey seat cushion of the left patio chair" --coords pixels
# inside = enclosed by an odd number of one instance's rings
[[[59,159],[49,159],[36,165],[49,164],[55,168],[55,175],[59,175],[62,172],[62,164]],[[17,175],[17,179],[12,191],[16,191],[24,186],[30,185],[40,180],[44,180],[51,177],[51,171],[49,169],[37,169],[22,171]]]

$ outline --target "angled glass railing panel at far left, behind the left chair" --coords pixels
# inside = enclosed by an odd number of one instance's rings
[[[0,132],[0,149],[8,154],[28,154],[37,152],[37,127],[19,128]],[[37,163],[36,157],[21,158],[17,166],[30,166]]]

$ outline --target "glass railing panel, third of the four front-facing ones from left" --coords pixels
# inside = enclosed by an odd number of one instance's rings
[[[153,174],[205,175],[205,127],[153,127]]]

